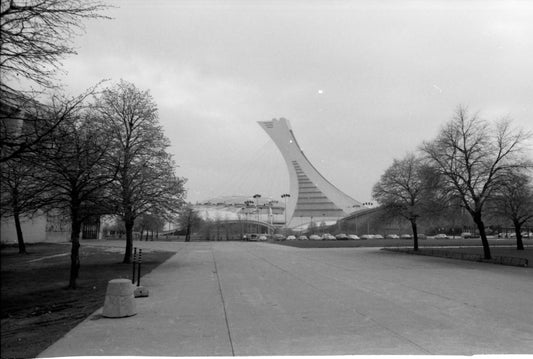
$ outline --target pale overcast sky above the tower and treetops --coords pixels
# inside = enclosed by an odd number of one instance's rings
[[[393,158],[459,104],[533,127],[533,2],[115,1],[64,61],[72,94],[150,90],[188,200],[280,199],[286,165],[257,121],[365,202]]]

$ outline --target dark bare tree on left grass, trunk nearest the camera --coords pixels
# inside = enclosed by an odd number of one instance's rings
[[[38,161],[40,182],[49,192],[46,207],[70,217],[72,242],[69,288],[76,288],[80,269],[80,231],[90,216],[104,214],[108,186],[116,172],[109,161],[110,140],[101,121],[79,107],[42,144]]]

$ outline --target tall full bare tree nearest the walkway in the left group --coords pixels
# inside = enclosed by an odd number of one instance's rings
[[[95,110],[112,136],[112,155],[118,171],[113,185],[116,213],[126,227],[124,263],[131,261],[133,225],[144,213],[177,211],[185,180],[174,174],[175,164],[159,125],[157,105],[148,91],[121,81],[103,91]]]

